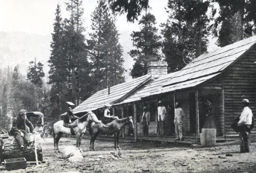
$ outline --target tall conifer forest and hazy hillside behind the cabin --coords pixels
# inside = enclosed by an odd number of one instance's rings
[[[83,1],[58,4],[49,44],[50,57],[44,57],[48,58],[44,64],[40,58],[33,57],[25,68],[24,63],[11,66],[8,60],[3,60],[15,47],[7,48],[0,41],[0,130],[9,128],[12,117],[20,109],[42,112],[46,122],[52,124],[66,112],[66,101],[78,105],[103,88],[145,75],[146,63],[157,56],[168,62],[171,73],[209,51],[212,37],[217,40],[217,46],[223,47],[255,35],[255,1],[163,2],[167,15],[159,23],[151,13],[148,0],[99,0],[91,13],[90,26],[83,17]],[[62,18],[62,13],[68,17]],[[127,23],[138,23],[128,38],[132,41],[129,61],[134,62],[130,70],[125,68],[126,52],[116,26],[119,15],[126,16]],[[0,40],[5,40],[5,33],[0,35]],[[26,49],[33,52],[34,48]],[[11,56],[10,59],[14,57],[19,62],[19,54]],[[28,56],[31,60],[33,55]]]

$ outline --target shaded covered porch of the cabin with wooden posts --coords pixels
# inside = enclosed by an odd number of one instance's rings
[[[169,92],[159,94],[147,98],[143,98],[143,102],[133,103],[134,112],[134,139],[135,140],[150,140],[150,141],[166,141],[174,142],[175,140],[175,128],[174,128],[174,108],[175,102],[181,103],[181,108],[185,113],[183,118],[183,137],[184,141],[191,144],[193,142],[200,141],[200,133],[203,127],[205,114],[202,112],[202,104],[205,104],[206,100],[212,101],[212,114],[216,119],[218,132],[216,135],[217,141],[225,140],[225,126],[224,126],[224,105],[223,105],[223,89],[222,88],[191,88],[190,90],[179,90],[175,92]],[[157,121],[157,107],[158,101],[161,100],[163,105],[168,110],[166,117],[166,136],[158,136],[159,125]],[[147,106],[150,111],[150,125],[149,135],[144,136],[142,131],[142,114],[143,106]],[[206,106],[206,105],[205,105]],[[129,136],[127,128],[123,131],[124,137]]]

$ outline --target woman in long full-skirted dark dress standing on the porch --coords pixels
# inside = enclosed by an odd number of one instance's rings
[[[219,134],[219,127],[218,122],[216,118],[213,115],[212,109],[213,105],[211,104],[212,100],[207,99],[206,105],[207,105],[207,114],[205,115],[205,123],[203,125],[203,129],[216,129],[216,136]]]

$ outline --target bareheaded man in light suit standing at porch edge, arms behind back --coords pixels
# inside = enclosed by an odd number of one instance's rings
[[[175,124],[175,135],[176,139],[175,141],[183,141],[182,137],[182,118],[184,117],[184,111],[180,107],[180,104],[178,102],[175,103],[175,109],[174,109],[174,124]]]

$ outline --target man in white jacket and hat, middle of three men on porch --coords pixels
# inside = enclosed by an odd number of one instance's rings
[[[158,102],[158,122],[159,122],[159,135],[163,136],[165,135],[165,117],[167,115],[167,110],[166,108],[163,106],[162,101],[160,100]]]

